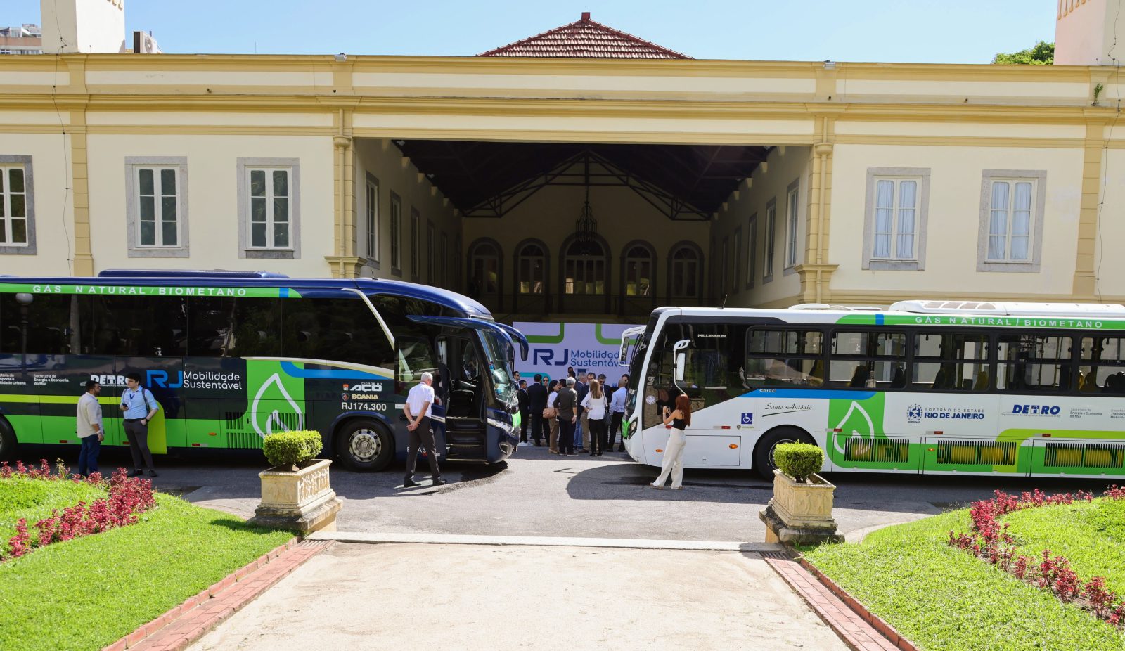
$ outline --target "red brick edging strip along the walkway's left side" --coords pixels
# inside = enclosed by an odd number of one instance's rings
[[[292,537],[188,597],[156,618],[137,626],[101,651],[179,651],[288,576],[332,542]]]

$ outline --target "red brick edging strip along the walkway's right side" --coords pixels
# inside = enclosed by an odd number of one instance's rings
[[[776,553],[762,558],[854,651],[919,651],[803,557]]]

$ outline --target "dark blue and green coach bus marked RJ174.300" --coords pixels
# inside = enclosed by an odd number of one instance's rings
[[[392,280],[107,270],[0,277],[0,459],[76,445],[74,409],[101,382],[106,442],[138,372],[160,403],[150,446],[260,449],[316,430],[352,470],[406,458],[405,395],[434,374],[438,449],[495,463],[519,443],[512,364],[526,340],[465,296]]]

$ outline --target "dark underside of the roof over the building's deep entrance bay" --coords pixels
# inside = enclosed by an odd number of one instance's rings
[[[551,186],[628,187],[670,219],[706,219],[766,160],[758,145],[395,141],[467,217],[502,217]]]

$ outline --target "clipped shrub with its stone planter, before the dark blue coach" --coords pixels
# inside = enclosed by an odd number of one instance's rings
[[[324,444],[320,432],[279,432],[262,441],[272,468],[258,473],[262,501],[252,524],[304,533],[335,531],[342,501],[328,485],[330,459],[316,459]]]

